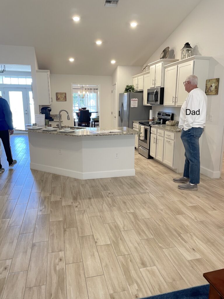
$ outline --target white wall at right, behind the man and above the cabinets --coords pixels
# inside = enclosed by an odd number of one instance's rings
[[[154,52],[145,63],[156,61],[162,50],[169,46],[168,58],[180,59],[180,49],[185,42],[194,47],[193,55],[211,56],[208,79],[220,78],[219,94],[208,96],[208,115],[213,115],[213,122],[207,121],[202,138],[201,165],[208,173],[218,176],[223,142],[223,113],[224,113],[224,1],[212,1],[213,13],[210,13],[211,1],[202,0],[200,4],[185,18],[168,39]],[[180,108],[159,107],[160,110],[170,111],[179,117]],[[158,110],[154,107],[153,110]],[[155,116],[155,114],[154,114]],[[209,118],[209,117],[208,117]]]

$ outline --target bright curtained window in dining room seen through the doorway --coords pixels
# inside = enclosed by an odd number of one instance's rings
[[[80,89],[73,88],[73,112],[77,112],[82,107],[86,107],[92,113],[91,118],[99,115],[99,100],[98,100],[98,89],[87,89],[85,90],[85,97],[79,97]],[[97,112],[97,113],[96,113]],[[76,116],[76,115],[74,115]]]

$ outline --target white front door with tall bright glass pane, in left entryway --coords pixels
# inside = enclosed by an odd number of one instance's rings
[[[4,88],[4,97],[13,114],[14,128],[23,128],[25,124],[30,123],[26,88]],[[15,131],[15,133],[23,132]]]

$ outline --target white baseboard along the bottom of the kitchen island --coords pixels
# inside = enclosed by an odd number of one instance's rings
[[[68,170],[68,169],[52,167],[52,166],[36,164],[36,163],[30,163],[30,168],[35,169],[35,170],[49,172],[49,173],[59,174],[61,176],[69,176],[71,178],[80,179],[80,180],[113,178],[113,177],[119,177],[119,176],[135,176],[134,169],[81,173],[81,172],[74,171],[74,170]]]

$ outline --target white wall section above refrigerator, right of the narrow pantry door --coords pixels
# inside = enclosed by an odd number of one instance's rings
[[[123,93],[126,85],[132,85],[133,78],[132,76],[140,74],[142,72],[142,66],[123,66],[118,65],[116,70],[112,74],[112,84],[117,83],[117,92],[116,92],[116,107],[118,115],[118,104],[119,104],[119,93]],[[118,116],[117,126],[118,126]]]

